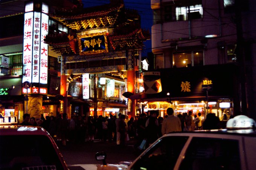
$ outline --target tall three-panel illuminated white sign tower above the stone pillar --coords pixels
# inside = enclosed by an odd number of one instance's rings
[[[40,84],[47,84],[48,76],[48,45],[44,43],[48,34],[48,11],[45,3],[42,3],[41,9],[34,9],[33,2],[25,6],[22,82],[38,84],[33,84],[37,87],[32,89],[32,94],[47,94],[47,88],[40,88]]]

